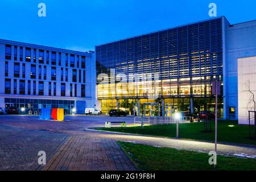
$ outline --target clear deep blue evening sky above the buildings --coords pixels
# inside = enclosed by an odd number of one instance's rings
[[[38,16],[46,3],[47,16]],[[0,39],[93,50],[95,45],[209,19],[208,5],[230,23],[256,19],[255,0],[1,0]]]

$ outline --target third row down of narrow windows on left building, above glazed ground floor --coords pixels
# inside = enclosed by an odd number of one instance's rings
[[[31,89],[31,85],[32,85],[32,89]],[[49,82],[48,85],[49,85],[48,96],[52,96],[52,85],[53,85],[53,96],[56,96],[56,82]],[[73,85],[75,88],[74,95],[73,95]],[[61,96],[63,96],[63,97],[66,96],[66,92],[65,92],[66,86],[68,86],[68,84],[61,83],[60,93],[61,93]],[[77,84],[69,84],[69,86],[70,86],[69,97],[77,97]],[[11,94],[11,79],[10,78],[5,79],[5,93]],[[17,79],[14,79],[14,81],[13,81],[13,93],[17,94]],[[25,94],[25,80],[19,80],[19,94],[20,95]],[[27,94],[28,95],[31,95],[31,94],[36,95],[36,81],[28,80]],[[43,81],[38,82],[38,95],[44,96],[44,82]],[[85,97],[85,85],[84,84],[81,85],[81,97]]]

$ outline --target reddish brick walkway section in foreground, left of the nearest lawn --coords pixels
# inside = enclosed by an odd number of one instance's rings
[[[72,136],[43,170],[131,171],[136,168],[115,140]]]

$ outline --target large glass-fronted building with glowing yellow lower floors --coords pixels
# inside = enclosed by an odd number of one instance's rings
[[[221,81],[225,17],[96,46],[97,98],[102,113],[124,107],[145,115],[214,110],[212,82]],[[224,100],[219,97],[219,117]],[[201,105],[201,107],[199,107]]]

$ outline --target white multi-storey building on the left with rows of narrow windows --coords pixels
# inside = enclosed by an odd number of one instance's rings
[[[64,108],[84,113],[95,103],[93,52],[0,40],[0,107],[20,114]]]

